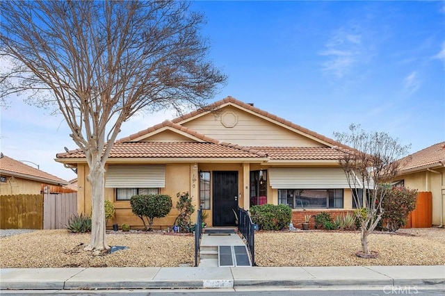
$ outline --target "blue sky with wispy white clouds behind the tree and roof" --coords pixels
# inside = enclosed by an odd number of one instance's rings
[[[210,58],[231,95],[333,138],[351,123],[387,131],[410,153],[445,140],[443,1],[195,1]],[[174,115],[139,115],[118,138]],[[61,117],[14,100],[1,110],[1,151],[63,179],[76,148]],[[28,163],[29,164],[29,163]]]

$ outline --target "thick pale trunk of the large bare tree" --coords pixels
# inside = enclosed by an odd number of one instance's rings
[[[92,190],[92,219],[91,219],[91,240],[85,247],[86,250],[102,251],[110,249],[106,243],[105,206],[104,191],[105,169],[100,161],[93,162],[90,166],[90,174],[87,180],[90,182]]]

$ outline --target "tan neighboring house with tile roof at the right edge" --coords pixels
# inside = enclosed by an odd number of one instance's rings
[[[444,225],[445,142],[437,143],[400,160],[394,184],[432,193],[432,224]]]

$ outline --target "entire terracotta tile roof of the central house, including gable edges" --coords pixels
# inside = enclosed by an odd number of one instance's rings
[[[289,129],[298,131],[298,133],[306,135],[309,138],[316,139],[328,147],[241,146],[210,138],[207,135],[203,135],[181,125],[197,117],[206,115],[212,112],[211,110],[218,112],[218,108],[223,108],[227,105],[247,110],[250,113],[266,118],[270,122],[287,126]],[[195,142],[138,142],[165,130],[181,134]],[[156,124],[138,133],[133,133],[132,135],[116,140],[109,158],[111,160],[113,160],[113,158],[234,158],[237,160],[240,158],[262,158],[263,161],[335,161],[343,154],[343,152],[337,149],[338,147],[351,149],[314,131],[309,131],[309,129],[302,128],[302,126],[293,124],[259,108],[254,108],[250,104],[245,104],[233,97],[227,97],[211,104],[208,108],[195,110],[171,121],[165,120],[161,124]],[[69,161],[70,159],[85,158],[85,154],[83,154],[81,149],[76,149],[57,154],[56,157]]]

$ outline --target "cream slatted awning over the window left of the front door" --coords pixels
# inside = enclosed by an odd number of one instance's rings
[[[165,188],[165,165],[108,165],[106,188]]]

